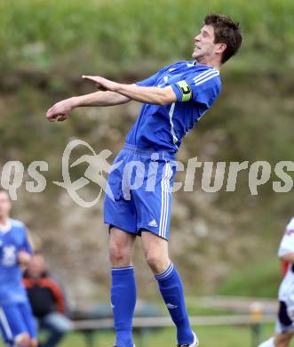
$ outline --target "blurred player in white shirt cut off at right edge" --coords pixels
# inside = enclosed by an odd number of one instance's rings
[[[278,256],[289,266],[279,289],[280,306],[275,335],[258,347],[288,347],[294,335],[294,218],[286,227]]]

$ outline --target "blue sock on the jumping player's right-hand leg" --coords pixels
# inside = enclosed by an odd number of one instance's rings
[[[178,271],[171,263],[163,273],[155,277],[163,295],[164,303],[170,311],[171,319],[177,326],[178,343],[193,343],[194,335],[187,316],[184,290]]]

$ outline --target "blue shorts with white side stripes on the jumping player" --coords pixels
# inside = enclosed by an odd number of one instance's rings
[[[147,230],[168,239],[174,159],[168,152],[124,144],[108,175],[104,222],[131,234]]]

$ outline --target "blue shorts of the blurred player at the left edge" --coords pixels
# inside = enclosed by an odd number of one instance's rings
[[[0,305],[0,330],[4,343],[13,344],[15,339],[24,333],[35,339],[36,321],[30,304],[27,302]]]

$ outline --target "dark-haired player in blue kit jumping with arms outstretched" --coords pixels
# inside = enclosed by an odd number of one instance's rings
[[[178,346],[198,346],[190,327],[182,282],[168,253],[171,188],[176,172],[173,159],[185,134],[219,96],[219,68],[241,44],[238,23],[224,15],[208,15],[195,36],[194,61],[176,62],[134,85],[84,76],[101,90],[60,101],[47,111],[50,121],[63,121],[72,109],[80,106],[111,106],[131,100],[143,103],[123,149],[115,158],[118,167],[108,175],[113,196],[106,195],[104,200],[104,220],[110,232],[115,346],[134,345],[136,282],[131,255],[138,235],[177,327]],[[123,165],[119,165],[121,162]],[[155,169],[151,170],[151,179],[150,167]],[[131,179],[125,180],[125,176]],[[140,181],[137,186],[131,183],[136,182],[136,176]]]

